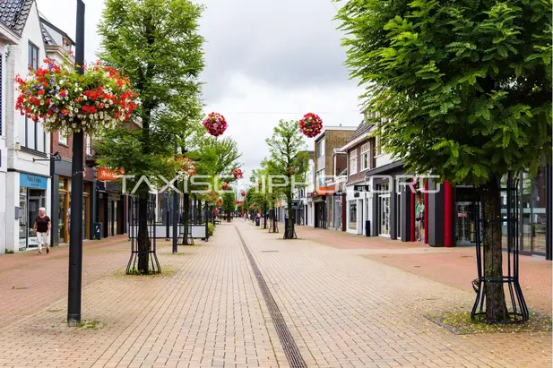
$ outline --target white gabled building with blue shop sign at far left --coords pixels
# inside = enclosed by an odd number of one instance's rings
[[[46,56],[34,0],[0,2],[0,39],[3,122],[0,252],[19,252],[36,246],[32,225],[39,208],[46,207],[48,216],[51,209],[50,136],[41,124],[21,116],[14,108],[15,75],[28,75],[29,68],[38,68]]]

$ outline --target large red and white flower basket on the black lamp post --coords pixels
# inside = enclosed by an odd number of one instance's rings
[[[46,132],[64,135],[83,131],[94,135],[131,118],[137,107],[136,92],[115,68],[97,63],[57,65],[45,59],[45,67],[30,71],[27,79],[16,76],[19,97],[15,108],[22,116],[40,122]]]

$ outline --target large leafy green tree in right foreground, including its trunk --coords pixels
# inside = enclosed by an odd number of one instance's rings
[[[551,0],[350,0],[337,19],[385,149],[480,187],[500,218],[502,176],[551,156]],[[483,245],[484,277],[502,278],[500,222]],[[501,284],[485,297],[487,321],[509,319]]]

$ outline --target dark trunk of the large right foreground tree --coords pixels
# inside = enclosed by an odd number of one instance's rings
[[[484,278],[501,280],[503,278],[503,250],[501,235],[501,210],[499,181],[494,177],[482,187],[482,212],[484,223]],[[492,220],[492,222],[489,222]],[[487,283],[484,295],[486,298],[486,321],[497,323],[509,321],[505,304],[503,283]]]

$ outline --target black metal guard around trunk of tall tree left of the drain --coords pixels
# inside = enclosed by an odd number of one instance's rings
[[[130,213],[130,222],[131,226],[129,229],[130,237],[131,237],[131,258],[129,259],[128,264],[126,265],[126,274],[130,275],[133,273],[133,270],[136,270],[137,262],[140,256],[143,254],[142,251],[138,249],[138,227],[140,223],[140,219],[138,217],[139,211],[138,211],[139,201],[134,201],[134,198],[130,198],[130,207],[131,207],[131,213]],[[160,262],[158,261],[158,256],[156,254],[156,202],[155,201],[148,201],[148,210],[146,216],[146,220],[148,221],[147,225],[147,232],[148,232],[148,240],[150,242],[150,246],[148,247],[148,250],[146,251],[148,253],[148,258],[150,259],[148,262],[148,268],[151,273],[161,273],[161,267]]]

